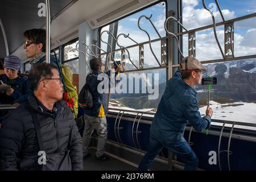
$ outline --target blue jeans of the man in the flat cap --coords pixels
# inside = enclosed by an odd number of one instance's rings
[[[150,140],[147,146],[147,152],[143,156],[141,163],[139,164],[139,171],[146,171],[150,164],[154,161],[156,155],[162,150],[163,147],[168,148],[169,151],[174,152],[178,158],[183,160],[185,163],[184,171],[193,171],[196,170],[199,159],[193,152],[192,148],[185,141],[184,142],[161,142],[156,139],[154,136],[150,136]]]

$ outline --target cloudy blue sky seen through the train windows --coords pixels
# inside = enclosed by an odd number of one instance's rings
[[[213,0],[205,1],[207,7],[213,10],[213,14],[216,18],[216,22],[221,22],[221,16],[218,12],[217,6]],[[256,13],[256,3],[254,0],[220,0],[218,1],[224,14],[225,20],[237,18],[243,15]],[[118,34],[129,34],[131,38],[138,43],[148,41],[148,37],[145,32],[139,30],[138,19],[141,15],[150,16],[152,14],[152,22],[155,24],[160,35],[166,36],[164,31],[164,20],[166,14],[165,3],[159,3],[158,5],[149,7],[143,11],[127,16],[118,22]],[[212,18],[207,10],[204,10],[202,1],[200,0],[183,0],[183,25],[188,30],[192,28],[206,26],[212,24]],[[145,18],[141,19],[140,25],[143,29],[148,31],[151,40],[159,38],[154,28],[152,28],[150,22]],[[109,27],[104,27],[103,30],[108,30]],[[105,33],[102,38],[106,41],[107,34]],[[219,42],[224,51],[224,26],[217,27],[217,36]],[[256,53],[256,18],[250,18],[236,22],[234,24],[234,53],[235,56],[254,55]],[[130,46],[134,44],[129,39],[125,39],[120,36],[118,43],[122,46]],[[101,43],[102,48],[106,49],[106,44]],[[160,42],[152,44],[152,48],[156,57],[160,61]],[[118,48],[118,47],[117,47]],[[134,60],[138,60],[139,51],[138,48],[129,49],[130,54]],[[184,55],[188,55],[188,36],[183,36],[183,51]],[[147,64],[157,66],[157,62],[150,52],[149,45],[145,45],[144,54]],[[214,39],[213,28],[208,30],[196,32],[196,57],[199,60],[212,60],[221,59],[221,52],[218,49],[216,40]]]

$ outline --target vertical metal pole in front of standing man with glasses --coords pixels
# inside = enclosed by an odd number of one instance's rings
[[[51,53],[51,14],[49,9],[49,0],[46,0],[46,63],[50,63]]]

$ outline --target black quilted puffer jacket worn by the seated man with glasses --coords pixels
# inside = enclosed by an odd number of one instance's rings
[[[32,122],[30,104],[40,119],[40,132],[46,155],[67,150],[71,134],[72,170],[82,169],[82,140],[76,122],[64,101],[56,102],[56,117],[38,107],[35,96],[28,102],[7,114],[0,129],[0,169],[1,170],[40,170],[38,164],[39,144]]]

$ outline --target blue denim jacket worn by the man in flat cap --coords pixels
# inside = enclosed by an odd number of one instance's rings
[[[210,116],[201,117],[196,99],[197,92],[184,82],[180,70],[166,85],[151,125],[151,134],[159,140],[184,140],[185,125],[189,122],[196,131],[210,127]]]

